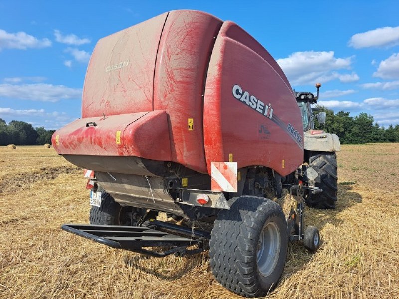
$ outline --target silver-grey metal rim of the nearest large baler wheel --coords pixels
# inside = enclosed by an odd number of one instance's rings
[[[256,252],[256,262],[262,276],[269,276],[276,268],[280,248],[280,230],[276,223],[269,222],[260,233]]]

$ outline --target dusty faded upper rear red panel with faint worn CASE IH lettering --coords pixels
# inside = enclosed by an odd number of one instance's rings
[[[153,110],[155,61],[167,15],[97,42],[83,88],[83,118]]]

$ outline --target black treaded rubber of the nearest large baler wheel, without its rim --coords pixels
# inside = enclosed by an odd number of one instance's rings
[[[285,225],[282,233],[286,236],[287,224],[284,214],[277,203],[261,197],[241,196],[231,199],[231,202],[230,210],[220,211],[212,230],[209,244],[212,273],[222,286],[234,293],[250,297],[264,296],[268,290],[260,289],[256,279],[255,244],[266,215],[282,217]],[[278,273],[278,279],[284,269],[287,238],[282,238],[281,242],[281,248],[284,250],[280,255],[284,263],[282,269],[277,269],[276,266],[275,271],[281,271]]]

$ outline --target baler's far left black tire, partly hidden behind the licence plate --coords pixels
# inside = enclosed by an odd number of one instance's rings
[[[101,205],[91,206],[90,224],[121,225],[120,213],[122,206],[110,194],[103,192]]]

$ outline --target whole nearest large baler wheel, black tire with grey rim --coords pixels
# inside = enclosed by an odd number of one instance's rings
[[[276,287],[284,270],[287,222],[281,207],[272,200],[241,196],[230,202],[229,210],[219,212],[211,232],[212,273],[222,286],[234,293],[247,297],[265,296]],[[277,237],[269,239],[277,240],[267,243],[273,244],[272,247],[259,245],[266,244],[263,241],[268,239],[267,233]],[[269,256],[271,260],[268,261]]]

